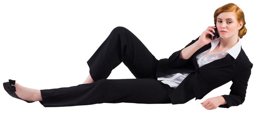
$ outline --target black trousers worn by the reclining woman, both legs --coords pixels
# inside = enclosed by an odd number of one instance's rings
[[[106,79],[121,62],[136,79]],[[155,70],[158,60],[128,29],[118,26],[87,61],[90,84],[44,89],[44,107],[91,105],[97,103],[171,103],[168,95],[174,90],[158,81]]]

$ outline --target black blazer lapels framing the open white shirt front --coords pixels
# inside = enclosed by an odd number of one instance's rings
[[[198,64],[197,64],[197,58],[196,56],[206,50],[208,50],[209,48],[211,47],[211,43],[201,47],[199,50],[197,50],[197,52],[194,54],[193,56],[193,64],[196,68],[199,68],[198,67]],[[239,56],[239,55],[238,55]],[[220,58],[220,59],[217,59],[217,60],[214,60],[202,67],[200,67],[200,69],[212,69],[212,68],[220,68],[220,67],[225,67],[225,66],[229,66],[237,61],[239,61],[240,58],[237,57],[236,59],[234,59],[230,54],[227,54],[224,58]]]

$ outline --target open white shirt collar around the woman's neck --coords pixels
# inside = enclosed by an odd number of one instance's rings
[[[238,37],[238,42],[236,43],[235,46],[229,48],[227,51],[225,51],[226,53],[229,53],[233,58],[237,58],[237,56],[239,55],[240,53],[240,50],[241,50],[241,38]],[[212,51],[218,44],[219,44],[219,41],[220,41],[220,37],[219,38],[216,38],[214,41],[211,42],[211,50]]]

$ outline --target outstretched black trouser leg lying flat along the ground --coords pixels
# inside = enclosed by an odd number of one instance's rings
[[[97,103],[171,103],[172,87],[155,79],[101,79],[90,84],[40,90],[44,107],[91,105]]]

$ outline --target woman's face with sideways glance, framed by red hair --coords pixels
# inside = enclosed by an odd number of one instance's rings
[[[223,12],[217,16],[217,29],[221,38],[237,37],[243,22],[238,23],[234,12]],[[226,32],[221,32],[224,30]]]

